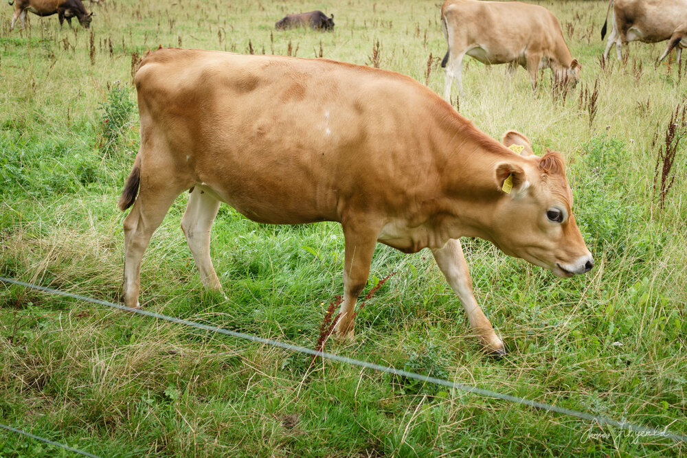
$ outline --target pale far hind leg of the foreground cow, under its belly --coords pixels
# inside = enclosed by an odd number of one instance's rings
[[[201,272],[203,286],[206,289],[221,292],[222,286],[210,258],[210,228],[217,216],[219,205],[220,201],[208,190],[196,185],[191,191],[186,211],[181,218],[181,230],[186,236],[193,259]]]

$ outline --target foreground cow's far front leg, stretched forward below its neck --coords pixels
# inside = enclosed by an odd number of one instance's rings
[[[490,353],[506,354],[503,341],[498,338],[491,323],[484,316],[480,306],[477,305],[473,295],[472,279],[468,271],[468,264],[465,262],[460,242],[451,239],[442,248],[433,249],[432,253],[447,282],[449,282],[455,294],[458,295],[460,303],[463,304],[470,326],[480,336],[482,345]]]

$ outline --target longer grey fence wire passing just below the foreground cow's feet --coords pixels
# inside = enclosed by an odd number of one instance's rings
[[[425,376],[423,374],[416,374],[414,372],[405,371],[403,369],[396,369],[394,367],[383,366],[374,363],[368,363],[368,361],[357,360],[354,358],[348,358],[347,356],[340,356],[333,353],[321,352],[317,350],[312,350],[311,348],[302,347],[300,345],[293,345],[291,343],[285,343],[280,341],[275,341],[273,339],[265,339],[264,337],[254,336],[251,334],[244,334],[243,332],[230,331],[223,328],[217,328],[216,326],[206,325],[203,323],[197,323],[196,321],[190,321],[185,319],[179,319],[175,317],[169,317],[164,314],[159,314],[156,312],[150,312],[148,310],[142,310],[140,308],[128,308],[122,304],[115,304],[109,301],[103,301],[101,299],[93,299],[91,297],[76,295],[72,293],[66,293],[64,291],[55,290],[52,288],[46,288],[45,286],[38,286],[30,283],[19,282],[18,280],[9,279],[5,277],[0,277],[0,282],[15,284],[17,286],[23,286],[25,288],[32,288],[35,290],[43,291],[44,293],[60,295],[65,297],[71,297],[72,299],[78,299],[80,301],[87,301],[93,304],[100,304],[102,306],[107,306],[111,308],[116,308],[118,310],[124,310],[126,312],[133,312],[145,317],[151,317],[159,320],[170,321],[171,323],[178,323],[181,325],[191,326],[193,328],[198,328],[205,331],[217,332],[218,334],[225,334],[227,336],[236,337],[238,339],[245,339],[247,341],[253,341],[257,343],[262,343],[264,345],[271,345],[273,347],[283,348],[285,350],[291,350],[292,352],[299,352],[302,354],[309,354],[311,356],[319,356],[321,358],[326,358],[328,360],[339,361],[340,363],[345,363],[348,365],[354,365],[358,367],[364,367],[365,369],[371,369],[374,371],[385,372],[387,374],[393,374],[396,376],[413,378],[415,380],[420,380],[422,382],[433,383],[435,385],[440,385],[442,387],[447,387],[450,389],[455,389],[457,391],[462,391],[464,393],[475,393],[486,398],[495,398],[499,400],[504,400],[507,402],[514,402],[515,404],[521,404],[527,407],[533,407],[534,409],[541,409],[543,411],[560,413],[561,415],[570,415],[572,417],[577,417],[581,420],[587,420],[589,422],[596,423],[598,425],[608,425],[614,426],[616,428],[624,429],[626,431],[631,431],[642,436],[652,436],[652,437],[666,437],[667,439],[673,440],[673,442],[687,442],[687,436],[679,433],[671,433],[668,428],[660,430],[657,428],[650,428],[647,426],[642,426],[639,424],[634,424],[627,422],[625,420],[618,421],[613,418],[605,417],[603,415],[592,415],[591,413],[575,411],[572,409],[567,409],[565,407],[559,407],[553,404],[547,404],[545,402],[539,402],[530,400],[527,398],[521,398],[519,396],[511,396],[509,394],[498,393],[497,391],[492,391],[489,389],[483,389],[478,387],[472,387],[470,385],[464,385],[462,383],[451,382],[450,380],[444,380],[441,378],[435,378],[430,376]],[[92,456],[92,455],[91,455]]]

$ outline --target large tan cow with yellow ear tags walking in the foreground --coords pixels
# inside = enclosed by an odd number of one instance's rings
[[[490,240],[559,277],[592,268],[561,154],[516,154],[412,78],[333,60],[159,49],[135,82],[141,147],[119,203],[133,204],[126,306],[139,306],[143,253],[185,190],[181,228],[212,290],[221,290],[210,260],[221,202],[258,222],[341,222],[343,336],[378,241],[431,249],[493,352],[504,345],[473,297],[458,238]],[[532,151],[519,133],[504,144]]]

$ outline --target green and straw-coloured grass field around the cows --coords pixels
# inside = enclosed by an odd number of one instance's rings
[[[602,65],[605,1],[548,1],[582,83],[533,92],[526,71],[466,58],[460,112],[492,137],[515,128],[563,152],[596,266],[562,280],[464,240],[475,296],[508,349],[484,355],[429,251],[376,250],[395,272],[327,349],[687,434],[687,159],[660,204],[655,167],[687,69],[664,43]],[[0,21],[0,275],[116,301],[116,208],[138,148],[132,69],[158,45],[324,56],[405,73],[441,93],[436,1],[106,0],[91,30],[29,14]],[[277,32],[288,12],[335,14],[335,31]],[[76,21],[74,21],[76,24]],[[615,55],[613,50],[611,56]],[[673,54],[674,55],[674,54]],[[427,75],[428,62],[430,63]],[[596,92],[594,88],[596,87]],[[454,89],[455,95],[455,89]],[[412,114],[411,114],[412,115]],[[107,122],[105,122],[107,120]],[[684,135],[684,117],[676,135]],[[172,206],[146,251],[147,310],[314,347],[343,291],[340,226],[269,226],[223,206],[211,250],[228,299],[203,292]],[[421,386],[93,304],[0,286],[0,423],[104,457],[684,455],[684,443]],[[69,456],[0,430],[0,457]]]

